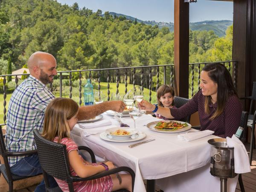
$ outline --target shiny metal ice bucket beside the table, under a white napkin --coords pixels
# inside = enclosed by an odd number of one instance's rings
[[[234,148],[227,146],[227,140],[216,138],[208,140],[211,145],[210,173],[215,177],[236,177],[234,166]]]

